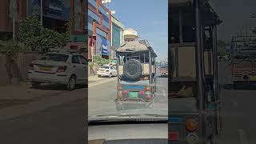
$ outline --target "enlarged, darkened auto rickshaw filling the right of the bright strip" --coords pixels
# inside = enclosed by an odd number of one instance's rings
[[[221,134],[221,22],[206,0],[169,0],[170,143],[214,143]]]

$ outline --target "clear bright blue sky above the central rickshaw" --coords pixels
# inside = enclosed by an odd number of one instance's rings
[[[126,28],[138,30],[140,39],[147,39],[158,61],[168,58],[168,0],[111,0],[106,4]]]

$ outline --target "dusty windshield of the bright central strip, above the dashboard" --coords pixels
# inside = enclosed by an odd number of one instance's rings
[[[124,118],[124,114],[144,118],[150,114],[154,118],[162,115],[167,120],[168,78],[160,77],[158,63],[168,58],[168,9],[167,1],[158,4],[166,6],[166,9],[159,8],[161,17],[149,10],[155,8],[154,1],[133,5],[132,11],[129,6],[123,6],[123,2],[115,1],[110,4],[111,10],[120,6],[122,13],[113,14],[111,30],[106,31],[109,22],[106,14],[100,17],[102,26],[90,29],[89,118]],[[127,17],[131,13],[141,17]],[[98,22],[96,16],[93,10],[89,11],[89,26],[94,27]],[[148,24],[152,16],[158,18],[162,26]]]

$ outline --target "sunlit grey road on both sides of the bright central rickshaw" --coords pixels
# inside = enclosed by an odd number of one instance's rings
[[[155,96],[155,109],[166,109],[168,102],[168,78],[157,78],[157,93]],[[117,94],[117,80],[106,82],[99,86],[90,87],[88,90],[88,114],[117,112],[114,99]],[[107,112],[106,112],[107,111]]]

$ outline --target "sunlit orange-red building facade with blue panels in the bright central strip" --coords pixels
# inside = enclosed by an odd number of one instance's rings
[[[102,0],[88,0],[88,59],[110,58],[111,12]]]

